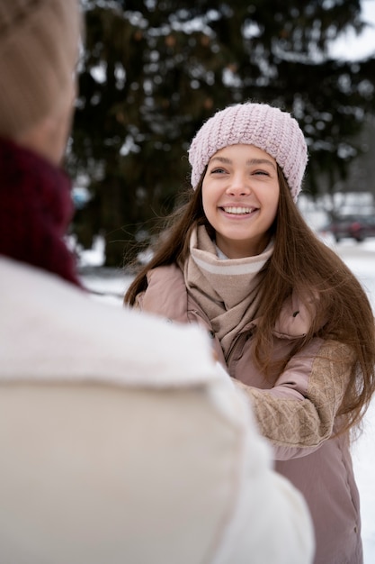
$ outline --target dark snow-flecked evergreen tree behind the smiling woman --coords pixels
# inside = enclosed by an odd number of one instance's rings
[[[305,190],[332,189],[358,154],[374,110],[375,59],[330,59],[340,33],[361,32],[360,0],[85,1],[86,38],[67,164],[93,197],[75,218],[85,246],[106,237],[122,265],[152,219],[171,211],[186,150],[217,109],[280,105],[309,145]],[[326,188],[325,188],[326,189]]]

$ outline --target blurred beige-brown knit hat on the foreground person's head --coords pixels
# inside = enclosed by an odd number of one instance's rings
[[[79,0],[0,0],[0,135],[68,103],[81,27]]]

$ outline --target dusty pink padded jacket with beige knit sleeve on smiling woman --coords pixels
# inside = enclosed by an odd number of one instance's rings
[[[180,323],[199,323],[229,375],[251,401],[259,428],[271,442],[277,470],[308,501],[317,538],[315,564],[361,564],[359,495],[348,436],[331,438],[347,385],[352,354],[334,341],[315,340],[268,381],[252,359],[253,323],[231,343],[227,363],[210,320],[186,291],[176,266],[148,273],[138,307]],[[299,311],[301,315],[295,314]],[[303,305],[285,304],[274,332],[274,355],[291,347],[303,326]]]

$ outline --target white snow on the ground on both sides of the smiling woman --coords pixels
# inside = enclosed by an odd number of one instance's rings
[[[326,241],[361,281],[375,311],[375,239],[362,243],[344,240],[340,243]],[[131,277],[120,269],[90,268],[101,265],[101,249],[81,258],[82,279],[93,292],[94,299],[121,307],[123,295]],[[353,444],[353,465],[362,504],[362,539],[364,564],[375,563],[375,399],[366,414],[361,437]]]

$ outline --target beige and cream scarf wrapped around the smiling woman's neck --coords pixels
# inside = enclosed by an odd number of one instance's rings
[[[232,341],[257,316],[261,268],[273,252],[273,243],[260,255],[220,259],[204,226],[192,232],[190,255],[183,268],[185,285],[210,318],[226,359]]]

